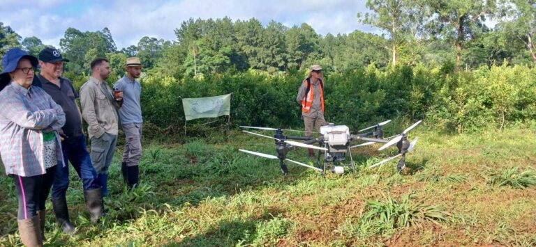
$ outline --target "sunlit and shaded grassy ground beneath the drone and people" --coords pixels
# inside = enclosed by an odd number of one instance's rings
[[[268,132],[266,132],[268,134]],[[119,152],[110,168],[107,219],[88,220],[71,169],[74,237],[47,203],[50,246],[535,246],[536,138],[523,129],[435,134],[421,127],[408,168],[368,169],[394,148],[356,150],[358,170],[323,178],[315,170],[251,157],[275,154],[269,140],[231,136],[147,143],[141,186],[124,192]],[[309,162],[306,150],[290,159]],[[2,168],[3,169],[3,168]],[[1,170],[3,173],[3,170]],[[0,177],[0,246],[20,245],[13,182]]]

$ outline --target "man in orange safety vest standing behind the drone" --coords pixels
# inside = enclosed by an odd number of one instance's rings
[[[320,132],[320,126],[326,124],[324,119],[324,77],[322,77],[320,65],[313,65],[309,68],[309,75],[301,83],[296,101],[301,104],[305,135],[313,136],[313,129]],[[315,157],[312,148],[308,149],[308,153],[309,157]]]

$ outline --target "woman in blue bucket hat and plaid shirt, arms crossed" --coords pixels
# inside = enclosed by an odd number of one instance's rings
[[[31,86],[37,65],[35,56],[13,48],[3,56],[0,74],[5,85],[0,91],[0,154],[15,183],[17,225],[25,246],[43,246],[54,166],[64,166],[58,130],[65,113],[43,89]]]

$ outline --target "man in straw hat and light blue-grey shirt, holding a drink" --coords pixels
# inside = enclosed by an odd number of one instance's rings
[[[136,81],[142,72],[140,58],[127,58],[125,69],[126,75],[114,84],[114,90],[123,92],[123,106],[119,109],[119,117],[126,140],[121,172],[126,184],[132,189],[138,182],[138,165],[142,157],[142,84]]]

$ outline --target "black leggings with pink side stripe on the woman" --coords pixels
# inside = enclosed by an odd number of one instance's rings
[[[56,166],[61,166],[57,164]],[[47,169],[47,173],[31,177],[21,177],[10,174],[15,183],[15,191],[19,200],[19,212],[17,219],[26,220],[36,216],[40,210],[45,210],[45,202],[52,182],[54,182],[54,172],[56,166]]]

